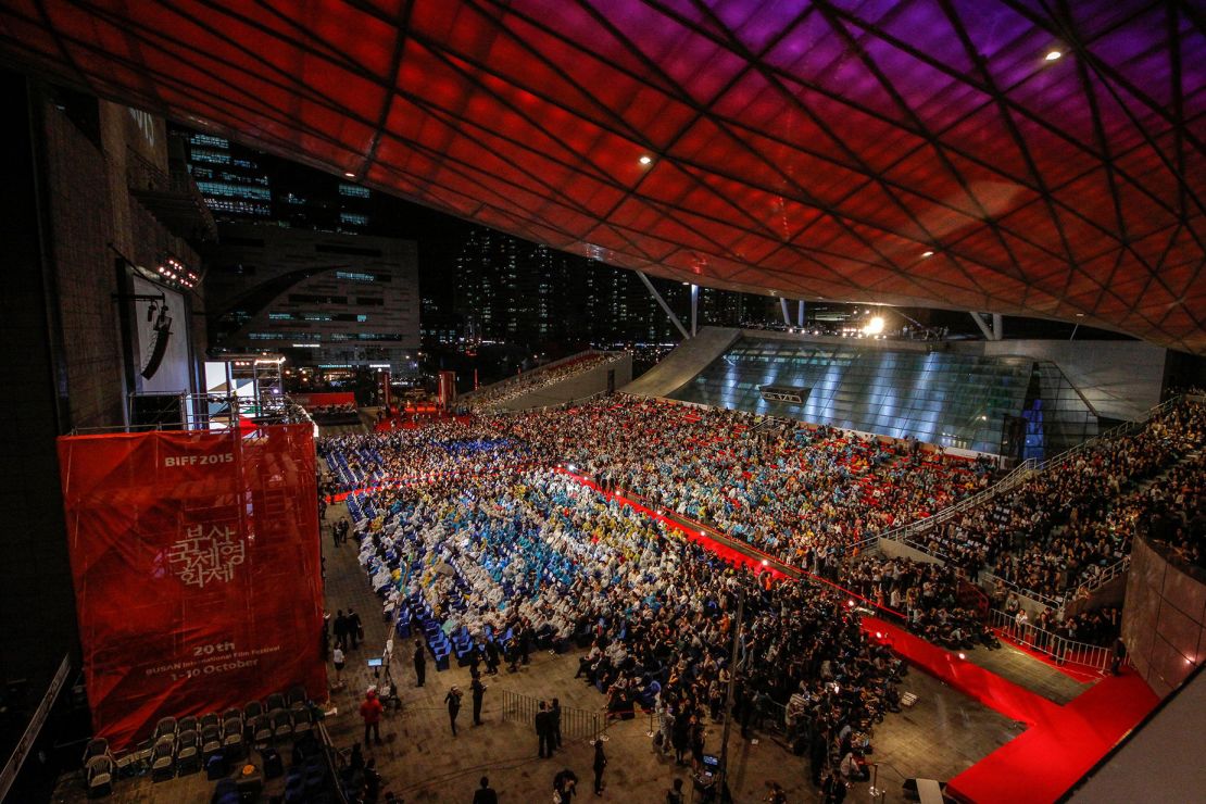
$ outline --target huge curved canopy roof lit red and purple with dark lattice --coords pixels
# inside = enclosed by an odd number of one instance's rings
[[[1195,0],[8,0],[0,47],[615,265],[1206,352]]]

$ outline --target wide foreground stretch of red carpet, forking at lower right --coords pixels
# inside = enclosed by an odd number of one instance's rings
[[[1134,674],[1110,676],[1064,706],[876,617],[901,657],[1029,728],[950,780],[947,793],[976,804],[1054,802],[1158,703]]]

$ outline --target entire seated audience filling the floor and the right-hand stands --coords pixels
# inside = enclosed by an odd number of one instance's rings
[[[925,539],[944,564],[849,550],[994,480],[987,460],[911,441],[613,397],[335,436],[320,451],[323,488],[349,493],[361,564],[399,633],[433,621],[450,658],[491,673],[537,649],[578,650],[578,676],[610,712],[656,712],[656,744],[697,768],[736,676],[743,734],[774,723],[839,800],[874,723],[898,708],[901,662],[844,594],[738,569],[605,492],[813,569],[933,644],[994,647],[984,595],[968,591],[982,568],[1001,579],[993,603],[1009,612],[1007,583],[1054,595],[1091,581],[1128,553],[1137,524],[1201,563],[1202,411],[1173,406],[935,528]],[[1043,639],[1108,645],[1119,618],[1049,610],[1032,624]]]

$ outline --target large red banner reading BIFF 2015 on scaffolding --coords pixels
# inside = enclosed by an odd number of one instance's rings
[[[327,697],[309,426],[59,439],[93,728]]]

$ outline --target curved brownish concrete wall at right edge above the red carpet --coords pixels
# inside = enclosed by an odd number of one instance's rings
[[[1142,538],[1131,550],[1123,640],[1161,698],[1206,659],[1206,577],[1173,565]]]

